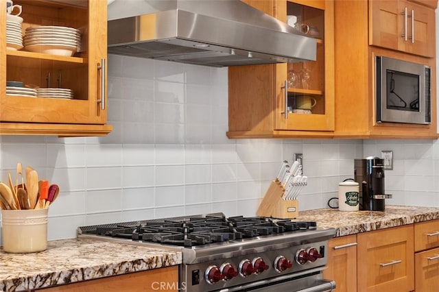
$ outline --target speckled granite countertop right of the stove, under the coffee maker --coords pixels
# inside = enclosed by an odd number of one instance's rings
[[[384,211],[305,210],[294,221],[316,221],[318,228],[337,228],[335,236],[344,236],[434,219],[439,219],[439,208],[385,206]]]

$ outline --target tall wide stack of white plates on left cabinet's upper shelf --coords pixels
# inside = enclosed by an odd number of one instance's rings
[[[73,56],[81,49],[81,33],[72,27],[27,27],[24,45],[26,51]]]

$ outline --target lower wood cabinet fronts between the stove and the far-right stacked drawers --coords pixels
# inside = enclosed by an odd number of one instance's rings
[[[331,239],[324,278],[337,292],[414,291],[413,238],[411,224]]]

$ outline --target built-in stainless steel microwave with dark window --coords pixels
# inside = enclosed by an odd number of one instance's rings
[[[431,69],[376,57],[377,122],[431,123]]]

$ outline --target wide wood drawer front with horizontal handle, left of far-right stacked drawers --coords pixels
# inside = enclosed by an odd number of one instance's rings
[[[357,234],[358,291],[414,289],[413,225]]]

